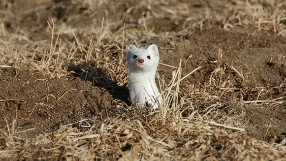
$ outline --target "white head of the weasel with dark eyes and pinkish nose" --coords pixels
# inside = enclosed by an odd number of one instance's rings
[[[129,71],[153,71],[159,63],[159,51],[155,44],[147,49],[129,45],[126,52]]]

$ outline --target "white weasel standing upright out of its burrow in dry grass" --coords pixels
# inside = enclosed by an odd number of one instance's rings
[[[126,52],[129,72],[129,97],[131,101],[144,105],[146,102],[156,109],[162,97],[155,83],[159,64],[159,51],[155,44],[147,49],[129,45]]]

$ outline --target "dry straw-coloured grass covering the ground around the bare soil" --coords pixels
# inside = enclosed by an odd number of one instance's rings
[[[105,73],[118,86],[127,86],[127,65],[124,60],[127,44],[141,46],[140,41],[144,39],[174,35],[172,31],[160,32],[163,29],[153,26],[165,19],[173,23],[177,32],[222,25],[225,30],[253,27],[274,35],[286,35],[284,0],[236,0],[235,4],[229,2],[223,8],[216,2],[198,0],[195,3],[200,7],[191,11],[188,9],[191,2],[176,4],[175,0],[98,0],[96,3],[75,0],[71,3],[87,9],[81,14],[69,15],[66,23],[55,23],[48,19],[49,25],[39,25],[42,29],[39,39],[32,31],[20,29],[17,23],[10,26],[12,29],[8,29],[7,24],[16,21],[17,16],[25,17],[42,8],[26,8],[17,12],[9,1],[1,1],[0,68],[36,70],[51,78],[61,78],[73,72],[71,65],[79,65],[82,66],[80,76],[86,79],[92,77],[95,84],[100,83],[100,74]],[[121,13],[122,8],[126,12]],[[125,19],[117,20],[116,16],[110,16],[112,14],[119,14]],[[55,18],[53,16],[49,15],[49,18]],[[91,20],[89,26],[73,27],[85,16]],[[4,143],[0,144],[0,158],[286,160],[286,146],[283,143],[269,144],[248,137],[236,118],[223,116],[216,122],[212,119],[216,109],[225,104],[222,97],[232,97],[237,90],[231,85],[231,80],[222,79],[224,70],[231,69],[241,79],[246,79],[235,66],[222,62],[222,56],[218,53],[217,61],[213,62],[217,68],[203,88],[195,85],[181,88],[180,82],[185,78],[181,75],[181,64],[176,67],[170,82],[165,82],[164,77],[158,75],[164,106],[156,111],[141,109],[138,112],[119,103],[121,117],[97,124],[85,119],[33,137],[26,137],[26,130],[17,131],[15,121],[7,122],[6,128],[0,129],[0,140]],[[235,100],[237,103],[281,104],[285,101],[285,97],[261,100],[259,96],[262,90],[268,90],[267,87],[243,90],[244,93],[253,94],[250,96],[253,99]],[[205,108],[199,110],[200,105]]]

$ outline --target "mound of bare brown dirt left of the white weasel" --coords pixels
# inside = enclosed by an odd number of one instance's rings
[[[0,70],[0,128],[16,119],[17,131],[48,132],[82,119],[116,117],[114,98],[81,79],[50,79],[35,71]],[[108,111],[108,113],[107,113]],[[5,122],[6,120],[7,122]]]

